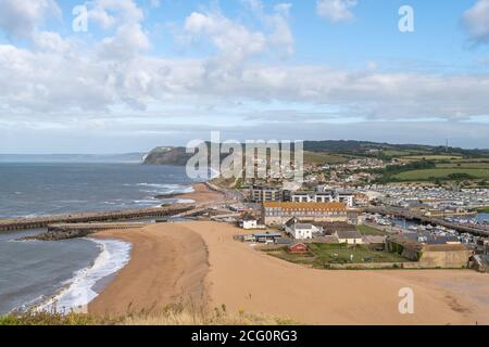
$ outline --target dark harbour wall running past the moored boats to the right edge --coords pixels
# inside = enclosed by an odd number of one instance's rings
[[[467,232],[478,236],[489,236],[489,228],[479,227],[479,226],[466,226],[447,221],[440,218],[430,218],[426,216],[421,216],[416,214],[412,214],[405,209],[397,208],[397,207],[376,207],[371,206],[365,208],[366,213],[369,214],[379,214],[379,215],[389,215],[396,216],[399,218],[408,219],[408,220],[416,220],[424,224],[434,224],[434,226],[442,226],[449,229],[456,230],[459,232]]]

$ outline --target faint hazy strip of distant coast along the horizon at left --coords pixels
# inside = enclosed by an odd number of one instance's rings
[[[0,163],[142,163],[146,153],[0,154]]]

